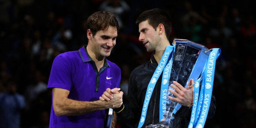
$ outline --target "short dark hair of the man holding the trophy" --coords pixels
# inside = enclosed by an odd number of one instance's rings
[[[136,24],[146,20],[148,20],[148,24],[150,24],[155,30],[157,30],[157,26],[159,24],[163,24],[166,31],[166,37],[170,40],[172,22],[170,15],[166,11],[158,8],[144,11],[137,18]]]

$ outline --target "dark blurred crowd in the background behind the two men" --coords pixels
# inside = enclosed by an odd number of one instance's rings
[[[254,128],[255,7],[252,0],[0,0],[0,96],[15,85],[13,93],[25,99],[18,110],[20,127],[48,128],[51,91],[46,86],[53,59],[86,45],[87,17],[108,10],[120,24],[108,59],[121,68],[120,87],[126,102],[130,72],[151,54],[138,41],[135,20],[147,9],[161,8],[173,18],[172,39],[221,48],[213,88],[216,113],[205,127]],[[0,104],[3,109],[4,102]],[[125,127],[118,123],[117,127]]]

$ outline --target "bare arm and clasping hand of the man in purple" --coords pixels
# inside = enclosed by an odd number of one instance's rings
[[[77,101],[68,99],[69,91],[62,88],[53,88],[53,109],[57,116],[84,115],[104,110],[107,108],[119,108],[122,102],[123,93],[113,95],[111,101]]]

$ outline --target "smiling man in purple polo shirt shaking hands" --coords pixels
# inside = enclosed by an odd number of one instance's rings
[[[119,108],[123,93],[98,99],[106,88],[119,88],[120,68],[106,59],[116,44],[118,22],[98,11],[86,22],[88,45],[55,57],[47,88],[52,90],[49,128],[104,128],[105,110]]]

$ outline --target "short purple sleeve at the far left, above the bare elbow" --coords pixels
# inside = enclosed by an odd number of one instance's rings
[[[55,57],[47,88],[63,88],[71,90],[72,66],[70,61],[69,57],[62,54]]]

